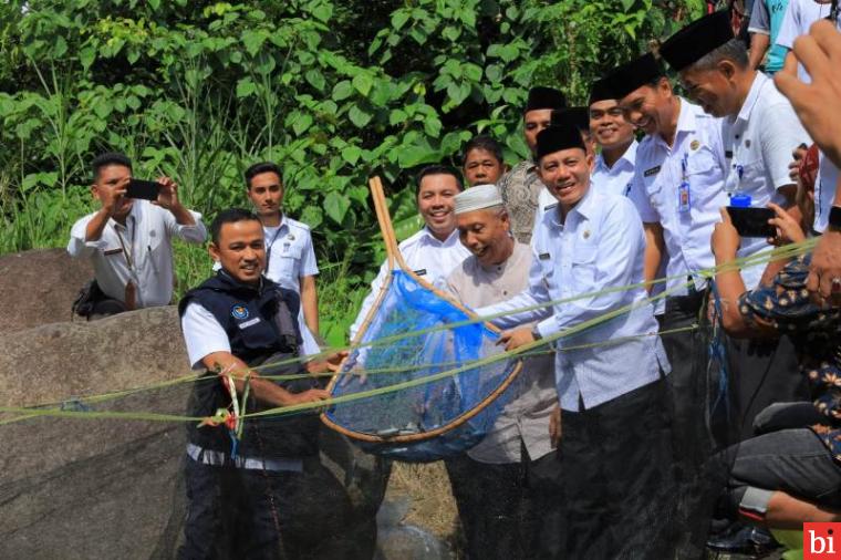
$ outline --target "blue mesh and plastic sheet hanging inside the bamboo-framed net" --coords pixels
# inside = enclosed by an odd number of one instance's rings
[[[406,272],[394,270],[392,274],[388,291],[361,342],[427,329],[432,332],[354,350],[343,373],[355,369],[366,375],[364,380],[361,375],[342,375],[334,384],[334,397],[427,377],[502,352],[496,344],[496,332],[482,323],[448,326],[468,320],[467,313],[420,286]],[[490,404],[481,406],[515,375],[516,370],[516,360],[499,360],[415,387],[336,404],[326,416],[354,434],[384,438],[384,443],[360,443],[371,453],[409,462],[451,457],[478,444],[491,429],[510,391],[503,391]],[[459,418],[477,408],[481,409],[453,427]],[[423,438],[424,434],[439,428],[444,429],[443,434]],[[395,436],[418,436],[422,439],[390,442]]]

